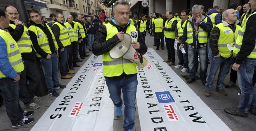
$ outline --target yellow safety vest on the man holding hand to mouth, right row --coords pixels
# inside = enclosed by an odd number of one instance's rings
[[[207,22],[207,17],[205,17],[205,19],[203,20],[203,22]],[[193,28],[192,25],[190,24],[190,22],[187,21],[187,42],[188,44],[192,44],[193,43]],[[207,32],[204,31],[200,26],[198,29],[198,41],[199,43],[207,43]]]

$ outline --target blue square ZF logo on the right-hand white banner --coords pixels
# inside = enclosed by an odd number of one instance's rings
[[[160,103],[175,102],[169,91],[155,92],[157,101]]]

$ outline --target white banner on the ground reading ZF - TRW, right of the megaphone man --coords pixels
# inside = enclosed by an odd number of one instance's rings
[[[137,75],[142,131],[230,131],[152,48],[146,57]]]

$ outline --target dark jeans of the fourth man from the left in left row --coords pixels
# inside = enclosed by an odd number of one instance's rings
[[[59,59],[60,59],[60,70],[61,76],[66,76],[67,72],[69,72],[68,68],[68,59],[69,59],[69,47],[64,47],[64,51],[61,52],[59,48]]]

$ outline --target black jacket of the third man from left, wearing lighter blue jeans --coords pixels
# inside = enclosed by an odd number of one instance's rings
[[[55,53],[54,41],[52,39],[52,34],[51,34],[50,30],[48,29],[47,25],[43,24],[44,25],[44,27],[43,27],[43,25],[35,24],[33,21],[30,21],[30,24],[35,25],[35,26],[37,26],[37,27],[39,27],[40,29],[43,30],[43,32],[45,33],[45,35],[48,38],[49,47],[50,47],[50,50],[51,50],[52,54]],[[40,55],[42,55],[42,57],[46,58],[48,53],[43,51],[43,49],[41,49],[41,47],[38,45],[36,34],[33,31],[30,31],[30,30],[28,32],[29,32],[30,39],[33,43],[33,47],[35,48],[36,52],[38,52]]]

